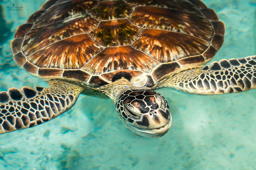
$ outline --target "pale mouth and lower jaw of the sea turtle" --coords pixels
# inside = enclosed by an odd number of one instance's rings
[[[133,131],[136,134],[139,134],[144,137],[161,137],[167,133],[169,128],[171,127],[172,124],[172,118],[169,119],[166,125],[159,127],[159,128],[138,128],[129,124],[125,124],[125,126]]]

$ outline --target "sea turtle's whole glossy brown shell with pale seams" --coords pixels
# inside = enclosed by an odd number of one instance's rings
[[[210,61],[224,33],[201,0],[49,0],[11,46],[15,61],[40,78],[99,87],[123,77],[153,87]]]

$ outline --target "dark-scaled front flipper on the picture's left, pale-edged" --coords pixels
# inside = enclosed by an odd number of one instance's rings
[[[50,88],[10,88],[0,92],[0,134],[31,128],[69,110],[83,90],[62,81],[49,82]]]

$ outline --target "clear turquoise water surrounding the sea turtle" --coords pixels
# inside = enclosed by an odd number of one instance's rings
[[[0,90],[47,84],[12,60],[17,27],[44,1],[0,1]],[[226,24],[225,42],[213,61],[256,54],[255,0],[205,0]],[[21,11],[8,11],[17,3]],[[196,96],[158,90],[173,122],[161,138],[131,133],[111,100],[81,95],[65,114],[40,126],[0,135],[0,170],[256,169],[256,90]]]

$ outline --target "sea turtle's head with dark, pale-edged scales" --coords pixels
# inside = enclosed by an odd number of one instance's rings
[[[165,98],[151,90],[127,90],[115,103],[124,125],[145,137],[161,137],[170,128],[172,116]]]

